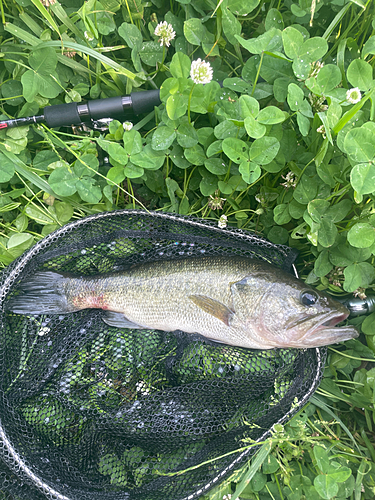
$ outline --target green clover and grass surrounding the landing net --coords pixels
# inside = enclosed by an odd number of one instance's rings
[[[318,288],[373,293],[373,2],[43,3],[3,6],[3,119],[153,88],[162,105],[131,130],[0,130],[2,266],[72,219],[136,207],[226,215],[297,248]],[[169,46],[155,35],[162,21]],[[205,85],[190,78],[198,58],[213,69]],[[373,498],[374,313],[352,322],[362,336],[330,353],[320,407],[275,431],[241,498]],[[101,467],[133,481],[126,457],[105,451]]]

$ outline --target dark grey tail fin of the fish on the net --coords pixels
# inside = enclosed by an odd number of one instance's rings
[[[58,314],[77,311],[65,294],[64,282],[70,278],[51,271],[39,272],[20,285],[6,309],[17,314]]]

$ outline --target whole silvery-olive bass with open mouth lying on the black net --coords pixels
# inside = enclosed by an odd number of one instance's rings
[[[182,330],[239,347],[309,348],[353,339],[335,328],[349,311],[267,262],[202,257],[139,264],[121,273],[72,277],[40,272],[7,309],[18,314],[106,310],[120,328]]]

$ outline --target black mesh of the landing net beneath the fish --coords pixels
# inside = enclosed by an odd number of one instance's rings
[[[3,271],[2,498],[193,500],[307,402],[325,349],[259,351],[118,329],[100,310],[5,312],[19,283],[40,270],[97,275],[203,254],[263,259],[287,271],[295,259],[290,248],[241,230],[123,210],[64,226]]]

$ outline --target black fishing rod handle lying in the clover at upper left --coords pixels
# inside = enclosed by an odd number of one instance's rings
[[[43,114],[0,122],[0,129],[45,123],[50,128],[85,124],[94,130],[108,127],[111,120],[127,120],[149,113],[161,104],[160,90],[132,92],[130,95],[93,99],[86,103],[71,102],[46,106]]]

